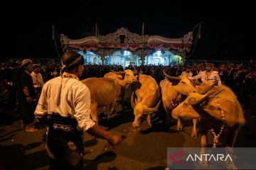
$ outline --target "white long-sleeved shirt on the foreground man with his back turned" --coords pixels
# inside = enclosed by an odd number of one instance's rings
[[[71,77],[55,77],[43,85],[35,116],[41,118],[53,113],[63,117],[71,115],[83,130],[95,125],[90,118],[90,91],[85,84]]]

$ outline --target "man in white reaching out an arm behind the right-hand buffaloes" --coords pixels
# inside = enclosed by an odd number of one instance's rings
[[[188,79],[201,79],[202,82],[205,81],[218,81],[218,86],[221,85],[220,76],[218,75],[218,72],[213,71],[213,64],[207,63],[206,64],[206,70],[203,72],[200,72],[198,75],[194,77],[188,77]]]

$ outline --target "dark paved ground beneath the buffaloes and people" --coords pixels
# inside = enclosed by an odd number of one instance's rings
[[[3,166],[6,169],[48,169],[46,128],[41,126],[37,132],[24,132],[21,120],[14,118],[13,113],[1,112],[0,117],[0,169]],[[127,109],[109,122],[102,122],[102,125],[110,132],[121,135],[134,130],[132,119],[132,111]],[[154,128],[151,128],[145,121],[140,132],[127,137],[115,149],[110,147],[107,151],[103,150],[107,144],[105,140],[95,139],[86,133],[85,169],[165,169],[167,147],[200,147],[200,135],[196,140],[190,137],[191,126],[177,132],[175,125],[166,130],[158,121],[153,123]],[[235,146],[256,147],[253,132],[256,132],[256,121],[250,118],[247,119],[247,127],[240,130]],[[208,136],[211,142],[210,133]]]

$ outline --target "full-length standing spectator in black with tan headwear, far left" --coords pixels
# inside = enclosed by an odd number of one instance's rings
[[[21,63],[23,72],[20,76],[20,89],[18,89],[19,101],[21,101],[21,110],[23,113],[23,127],[26,132],[35,132],[38,129],[33,127],[33,120],[35,119],[34,111],[36,110],[36,90],[33,86],[33,80],[30,72],[33,70],[32,60],[26,59]]]

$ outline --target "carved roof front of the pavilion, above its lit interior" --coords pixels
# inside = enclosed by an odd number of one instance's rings
[[[125,45],[120,44],[119,35],[125,35]],[[78,40],[71,40],[67,36],[60,34],[60,41],[65,49],[93,50],[97,51],[101,56],[111,54],[118,48],[132,50],[140,56],[149,55],[153,50],[170,50],[173,53],[183,55],[185,52],[190,51],[190,45],[187,44],[191,44],[192,40],[192,32],[188,32],[183,38],[164,38],[159,35],[149,36],[130,33],[127,28],[119,28],[116,32],[108,35],[89,36]],[[144,52],[142,52],[143,47],[145,47]],[[105,51],[102,53],[100,50]]]

